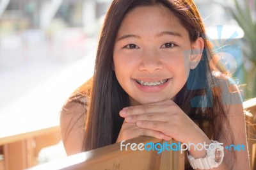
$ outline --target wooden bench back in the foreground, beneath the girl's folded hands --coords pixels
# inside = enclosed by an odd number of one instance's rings
[[[125,141],[127,143],[146,144],[159,143],[163,140],[153,137],[140,136],[134,139]],[[168,141],[168,144],[178,144],[175,141]],[[76,155],[63,158],[61,160],[49,162],[31,168],[31,170],[39,169],[95,169],[95,170],[117,170],[117,169],[161,169],[161,170],[181,170],[184,169],[184,152],[180,151],[162,151],[157,153],[154,151],[132,151],[127,148],[127,151],[120,150],[120,143],[111,144],[96,150],[78,153]]]

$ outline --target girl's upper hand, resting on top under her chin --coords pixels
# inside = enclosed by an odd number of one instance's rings
[[[139,128],[163,133],[166,141],[173,138],[181,143],[211,143],[207,135],[173,100],[126,107],[120,111],[120,116],[127,123],[136,123]]]

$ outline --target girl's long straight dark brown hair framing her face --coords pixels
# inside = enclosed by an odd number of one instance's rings
[[[191,42],[200,36],[205,48],[198,66],[189,73],[188,81],[175,97],[175,103],[196,121],[209,139],[218,140],[227,115],[221,101],[221,89],[214,88],[216,80],[210,66],[210,43],[205,38],[205,27],[193,0],[114,0],[100,35],[95,72],[86,112],[84,151],[115,143],[123,118],[118,112],[129,106],[129,97],[118,83],[113,71],[113,48],[116,33],[124,16],[138,6],[164,5],[187,29]],[[88,95],[88,94],[86,94]],[[206,98],[204,97],[206,96]],[[206,104],[206,105],[205,105]],[[208,126],[204,126],[207,121]],[[232,142],[232,133],[229,135]]]

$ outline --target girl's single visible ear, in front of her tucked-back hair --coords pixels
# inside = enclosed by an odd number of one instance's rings
[[[198,37],[197,40],[191,45],[191,55],[190,55],[190,69],[196,68],[200,62],[204,50],[204,40],[202,37]]]

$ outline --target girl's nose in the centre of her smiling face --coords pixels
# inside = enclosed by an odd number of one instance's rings
[[[160,55],[156,51],[150,50],[141,54],[140,71],[153,73],[162,69],[163,63]]]

